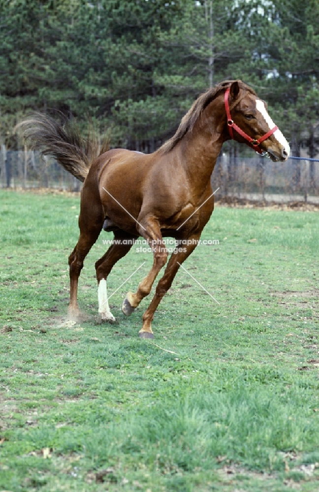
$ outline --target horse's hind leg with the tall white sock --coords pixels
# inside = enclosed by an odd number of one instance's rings
[[[123,234],[116,232],[114,234],[114,239],[120,239],[121,244],[111,245],[106,253],[96,262],[98,312],[102,321],[108,321],[109,323],[114,323],[115,317],[111,313],[108,304],[106,279],[115,263],[128,253],[132,247],[134,238],[133,236],[128,238],[127,235],[124,236]],[[126,239],[127,242],[130,242],[130,244],[123,244],[124,239]]]

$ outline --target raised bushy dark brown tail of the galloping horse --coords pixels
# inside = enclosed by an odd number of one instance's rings
[[[58,123],[53,118],[35,113],[18,123],[33,149],[41,149],[41,155],[52,155],[66,171],[84,181],[92,162],[109,150],[108,142],[100,145],[94,134],[84,138],[74,120]]]

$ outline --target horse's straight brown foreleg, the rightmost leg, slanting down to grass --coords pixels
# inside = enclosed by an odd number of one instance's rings
[[[153,333],[152,332],[152,321],[154,318],[154,313],[157,309],[157,307],[160,304],[160,301],[172,285],[172,282],[174,280],[175,275],[177,274],[177,271],[180,267],[180,265],[183,263],[183,261],[186,260],[186,258],[191,254],[191,252],[195,249],[197,245],[197,240],[199,239],[200,234],[194,235],[191,238],[192,243],[195,244],[190,244],[187,246],[183,246],[183,251],[177,252],[177,253],[172,253],[167,266],[165,268],[165,272],[163,277],[161,277],[155,291],[155,295],[151,301],[151,304],[149,307],[146,309],[146,311],[143,314],[143,327],[141,331],[139,332],[139,336],[141,338],[144,338],[145,334],[147,333]],[[186,249],[186,251],[185,251]]]

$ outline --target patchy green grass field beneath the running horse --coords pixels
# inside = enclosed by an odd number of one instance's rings
[[[100,324],[66,321],[79,197],[0,190],[0,490],[319,491],[319,214],[217,207],[141,340],[152,263],[134,249],[108,279]],[[153,289],[154,290],[154,289]],[[172,353],[171,353],[172,352]]]

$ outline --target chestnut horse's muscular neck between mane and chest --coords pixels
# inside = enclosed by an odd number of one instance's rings
[[[225,110],[218,99],[209,104],[194,124],[192,131],[186,134],[181,142],[183,166],[190,183],[197,187],[199,192],[210,181],[225,141]]]

